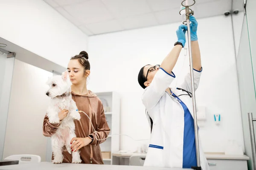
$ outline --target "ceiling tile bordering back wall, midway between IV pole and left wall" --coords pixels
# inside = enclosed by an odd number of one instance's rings
[[[125,29],[156,26],[158,24],[153,13],[120,19],[119,22]]]

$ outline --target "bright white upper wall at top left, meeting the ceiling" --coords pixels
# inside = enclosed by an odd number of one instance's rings
[[[0,37],[63,67],[87,36],[43,0],[0,0]]]

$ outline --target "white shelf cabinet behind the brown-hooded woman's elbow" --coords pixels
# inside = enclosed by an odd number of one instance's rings
[[[102,101],[106,120],[110,128],[110,134],[120,133],[120,98],[116,92],[99,92],[95,93]],[[118,152],[120,149],[120,136],[113,135],[106,139],[105,142],[100,144],[102,152],[110,152],[110,158],[103,158],[104,164],[116,164],[119,161],[115,157],[113,158],[112,153]],[[105,155],[105,154],[104,154]]]

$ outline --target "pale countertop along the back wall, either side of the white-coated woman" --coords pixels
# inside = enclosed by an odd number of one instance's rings
[[[116,152],[112,154],[117,157],[130,157],[130,156],[146,156],[146,153],[121,153]],[[206,159],[229,159],[229,160],[249,160],[246,155],[225,155],[225,154],[205,154]]]

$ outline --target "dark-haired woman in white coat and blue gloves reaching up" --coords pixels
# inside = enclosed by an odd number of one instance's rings
[[[198,23],[193,16],[190,21],[196,90],[202,72],[201,54],[197,37]],[[179,26],[176,31],[177,42],[161,65],[145,65],[138,75],[138,82],[145,89],[142,101],[151,124],[151,139],[144,166],[197,167],[190,73],[179,88],[169,88],[175,79],[172,70],[186,42],[186,30],[186,26]],[[199,144],[201,167],[209,170],[200,139]]]

